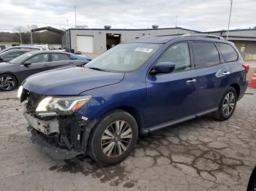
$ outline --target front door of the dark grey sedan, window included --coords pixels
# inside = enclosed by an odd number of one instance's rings
[[[40,71],[46,71],[50,69],[50,60],[48,53],[42,53],[38,55],[34,55],[28,60],[24,61],[31,63],[28,66],[20,65],[20,79],[23,81],[26,77],[31,76],[32,74],[37,74]]]

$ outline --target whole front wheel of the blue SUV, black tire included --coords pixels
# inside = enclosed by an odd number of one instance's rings
[[[95,127],[91,135],[89,152],[102,165],[120,163],[135,148],[138,125],[131,114],[114,110]]]

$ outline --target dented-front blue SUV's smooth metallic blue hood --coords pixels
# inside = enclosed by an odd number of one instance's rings
[[[86,90],[116,84],[123,78],[124,73],[72,67],[34,74],[24,80],[23,88],[44,95],[79,95]]]

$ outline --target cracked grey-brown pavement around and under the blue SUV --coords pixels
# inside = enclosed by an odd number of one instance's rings
[[[53,160],[29,142],[16,92],[0,92],[0,190],[246,190],[256,165],[256,89],[230,120],[211,116],[140,138],[123,163]]]

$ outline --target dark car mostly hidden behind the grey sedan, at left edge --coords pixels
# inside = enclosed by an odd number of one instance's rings
[[[26,52],[31,52],[34,50],[31,49],[17,49],[17,50],[9,50],[6,52],[0,53],[0,62],[10,62],[14,58],[19,57],[20,55],[25,54]]]

